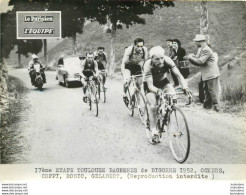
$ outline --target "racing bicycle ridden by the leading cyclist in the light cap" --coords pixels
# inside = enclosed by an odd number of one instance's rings
[[[159,137],[164,133],[168,135],[168,142],[174,159],[183,163],[187,160],[190,152],[190,132],[187,119],[177,104],[176,95],[183,91],[168,93],[164,89],[157,97],[157,130]],[[188,103],[191,104],[192,95],[187,94]]]

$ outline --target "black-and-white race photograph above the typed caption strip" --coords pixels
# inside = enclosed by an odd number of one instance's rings
[[[245,1],[0,5],[1,165],[246,164]]]

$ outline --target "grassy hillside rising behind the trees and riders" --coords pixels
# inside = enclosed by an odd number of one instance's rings
[[[239,63],[236,56],[242,56],[244,50],[237,47],[245,47],[246,40],[246,6],[244,2],[208,2],[209,11],[209,34],[213,50],[219,54],[219,64],[228,65],[228,62]],[[157,9],[154,15],[143,15],[146,20],[145,25],[134,25],[129,29],[125,27],[117,31],[115,41],[116,49],[116,71],[119,71],[119,64],[123,55],[124,48],[132,44],[136,37],[142,37],[148,48],[155,45],[165,47],[167,38],[178,38],[187,53],[196,51],[193,39],[199,33],[200,24],[200,2],[175,2],[175,7]],[[96,50],[99,45],[106,48],[109,54],[110,34],[103,31],[103,27],[98,23],[89,23],[84,27],[84,33],[77,36],[77,49],[79,55],[85,52]],[[72,41],[68,38],[49,50],[49,66],[54,66],[57,58],[62,54],[72,54]],[[42,54],[39,54],[42,56]],[[11,62],[16,63],[17,55],[11,55]],[[25,64],[29,59],[23,58]],[[243,73],[238,80],[245,76],[243,67],[234,66],[233,71]],[[224,71],[225,69],[225,71]],[[224,68],[222,73],[232,71]],[[235,70],[236,69],[236,70]],[[199,71],[199,68],[192,67],[192,73]],[[227,75],[228,76],[228,75]],[[228,78],[222,76],[222,78]]]

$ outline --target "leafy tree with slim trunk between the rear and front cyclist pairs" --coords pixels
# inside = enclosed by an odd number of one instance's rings
[[[117,29],[121,29],[123,24],[129,27],[133,24],[145,24],[145,20],[140,17],[142,14],[153,14],[158,7],[174,6],[171,1],[124,1],[124,0],[101,0],[90,1],[92,7],[98,7],[99,23],[105,23],[104,18],[111,23],[111,48],[109,73],[113,74],[115,69],[114,43]]]

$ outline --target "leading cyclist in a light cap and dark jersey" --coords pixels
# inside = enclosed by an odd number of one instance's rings
[[[173,60],[165,55],[165,50],[161,46],[156,46],[149,51],[150,59],[144,63],[144,91],[148,104],[150,127],[146,128],[146,134],[151,144],[159,143],[159,133],[156,129],[156,106],[157,95],[160,95],[163,89],[169,93],[175,93],[173,86],[169,83],[166,73],[171,70],[177,76],[185,92],[188,92],[187,83],[180,74]]]

